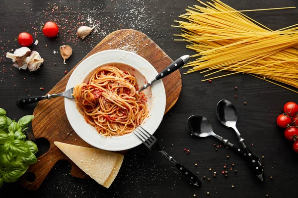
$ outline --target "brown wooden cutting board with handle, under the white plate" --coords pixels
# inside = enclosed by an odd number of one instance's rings
[[[108,49],[123,49],[135,52],[147,59],[158,72],[173,62],[173,60],[147,35],[131,29],[118,30],[109,34],[82,60],[96,52]],[[79,63],[77,63],[77,65]],[[77,65],[75,65],[75,67]],[[65,91],[66,84],[74,68],[49,92],[49,94]],[[162,82],[166,92],[166,113],[176,103],[181,92],[182,82],[180,72],[178,70],[173,72],[170,76],[163,78]],[[71,127],[64,108],[64,98],[59,97],[40,101],[33,115],[35,117],[32,120],[32,130],[35,138],[46,138],[50,142],[50,148],[45,154],[38,157],[38,161],[30,165],[27,171],[27,173],[31,175],[33,173],[35,175],[35,181],[27,181],[26,174],[24,174],[20,179],[21,185],[30,190],[38,189],[52,167],[60,159],[70,161],[72,164],[71,174],[73,176],[87,178],[88,176],[54,145],[55,141],[59,141],[83,147],[92,147],[80,139]]]

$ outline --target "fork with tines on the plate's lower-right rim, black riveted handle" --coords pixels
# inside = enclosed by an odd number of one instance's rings
[[[182,164],[176,162],[173,157],[168,155],[165,151],[163,151],[160,147],[160,144],[158,140],[148,133],[142,126],[138,126],[133,133],[144,143],[146,147],[148,147],[150,150],[158,150],[162,153],[163,156],[165,156],[170,162],[172,162],[176,168],[184,175],[192,184],[195,186],[202,186],[201,181],[199,178],[193,174],[190,170],[185,168]]]

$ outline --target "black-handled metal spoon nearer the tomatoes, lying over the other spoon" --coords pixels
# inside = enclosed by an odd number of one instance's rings
[[[237,137],[239,139],[239,142],[241,143],[242,147],[245,150],[245,153],[248,155],[248,157],[250,159],[249,161],[250,161],[250,164],[251,164],[255,174],[260,179],[260,181],[264,181],[264,171],[262,168],[260,168],[260,166],[261,167],[264,166],[264,163],[262,162],[262,160],[259,157],[258,157],[258,159],[254,158],[254,155],[252,154],[252,152],[249,150],[249,148],[247,148],[247,146],[243,142],[244,139],[241,137],[241,134],[239,133],[239,131],[236,128],[237,112],[236,112],[234,105],[230,101],[222,99],[217,104],[216,114],[217,114],[219,121],[224,126],[234,129],[234,131],[236,132]]]

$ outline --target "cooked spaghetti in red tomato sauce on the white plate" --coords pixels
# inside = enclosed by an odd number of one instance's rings
[[[115,66],[101,66],[88,83],[74,87],[76,107],[103,136],[132,132],[148,116],[147,99],[137,93],[136,78]]]

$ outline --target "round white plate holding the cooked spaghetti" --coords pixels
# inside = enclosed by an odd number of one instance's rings
[[[130,72],[135,74],[139,86],[142,86],[145,80],[146,82],[152,80],[158,74],[146,59],[135,53],[118,49],[105,50],[89,56],[74,69],[66,90],[82,83],[90,72],[106,63],[130,65],[133,68]],[[144,93],[148,99],[149,116],[142,126],[150,134],[153,134],[159,126],[165,110],[166,98],[162,81],[156,81]],[[77,135],[96,148],[117,151],[134,148],[142,144],[134,133],[111,138],[98,134],[97,130],[89,125],[78,112],[74,99],[65,99],[65,110],[68,120]]]

